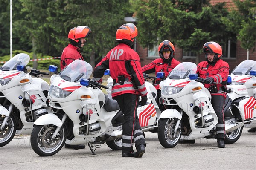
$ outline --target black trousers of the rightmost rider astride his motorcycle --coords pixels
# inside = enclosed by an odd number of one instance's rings
[[[218,124],[216,125],[217,139],[225,138],[225,121],[224,121],[224,103],[225,97],[223,95],[212,95],[212,107],[218,117]]]

